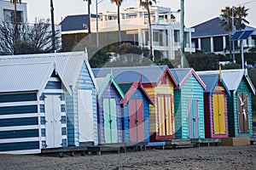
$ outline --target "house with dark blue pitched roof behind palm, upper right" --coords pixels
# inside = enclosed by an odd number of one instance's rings
[[[192,32],[191,38],[196,49],[209,53],[229,52],[230,32],[221,27],[219,24],[221,20],[221,17],[216,17],[192,27],[195,32]],[[243,40],[243,47],[247,49],[256,47],[256,28],[246,26],[245,30],[253,30],[253,34],[248,40]],[[235,41],[235,48],[238,47],[240,47],[240,42]]]

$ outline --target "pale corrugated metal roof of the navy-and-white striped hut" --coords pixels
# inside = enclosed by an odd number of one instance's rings
[[[53,62],[0,65],[0,93],[39,91],[53,71]]]

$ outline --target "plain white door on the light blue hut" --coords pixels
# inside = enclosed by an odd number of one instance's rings
[[[80,89],[79,97],[79,142],[94,141],[92,90]]]

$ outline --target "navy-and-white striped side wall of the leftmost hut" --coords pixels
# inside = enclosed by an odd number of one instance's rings
[[[40,152],[37,99],[37,93],[0,94],[0,153]]]

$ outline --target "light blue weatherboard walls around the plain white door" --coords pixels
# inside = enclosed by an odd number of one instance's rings
[[[94,122],[94,143],[98,143],[97,135],[97,108],[96,108],[96,88],[93,84],[92,77],[85,63],[79,73],[76,87],[73,89],[73,96],[67,94],[67,136],[68,145],[79,146],[79,100],[78,89],[91,89],[93,101],[93,122]]]

